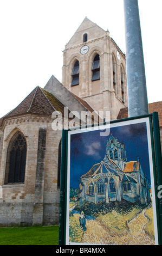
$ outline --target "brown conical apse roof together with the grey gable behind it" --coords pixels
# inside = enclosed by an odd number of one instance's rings
[[[67,106],[69,111],[89,111],[94,109],[82,100],[79,96],[69,92],[54,76],[44,88],[37,86],[25,99],[12,111],[0,118],[0,127],[6,118],[16,117],[22,114],[51,115],[54,111],[60,111],[64,114],[64,107]],[[72,108],[74,107],[74,109]],[[96,114],[96,121],[101,118]]]

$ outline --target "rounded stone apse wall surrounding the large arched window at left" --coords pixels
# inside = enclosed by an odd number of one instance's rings
[[[60,190],[57,187],[57,163],[61,131],[51,129],[50,118],[23,117],[21,122],[16,118],[5,122],[0,142],[0,225],[58,224]],[[46,131],[46,145],[39,142],[40,130]],[[21,131],[27,141],[25,181],[24,184],[5,185],[7,149],[17,131]],[[44,135],[42,133],[43,138]],[[40,150],[43,155],[39,158]]]

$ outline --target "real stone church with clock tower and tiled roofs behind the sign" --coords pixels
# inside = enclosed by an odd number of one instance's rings
[[[67,107],[110,111],[111,120],[127,114],[125,54],[87,17],[63,51],[62,82],[52,75],[0,119],[1,226],[59,223],[62,131],[53,129],[53,113],[69,122]]]

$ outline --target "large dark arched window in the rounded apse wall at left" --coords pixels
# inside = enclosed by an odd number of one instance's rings
[[[27,142],[18,132],[8,147],[5,184],[24,183],[27,158]]]

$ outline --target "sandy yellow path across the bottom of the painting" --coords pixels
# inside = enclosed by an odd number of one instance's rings
[[[128,231],[118,234],[110,232],[98,220],[86,220],[87,230],[82,237],[82,243],[98,245],[154,245],[154,240],[145,233],[148,219],[146,209],[128,223]],[[79,214],[74,214],[79,219]]]

